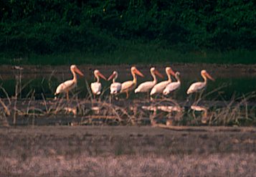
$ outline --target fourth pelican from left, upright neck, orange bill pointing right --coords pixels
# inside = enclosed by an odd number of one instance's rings
[[[133,75],[133,80],[128,80],[126,82],[123,82],[120,90],[120,92],[126,93],[126,99],[129,97],[129,91],[136,88],[136,85],[137,85],[136,75],[144,77],[144,75],[141,72],[139,72],[136,67],[131,67],[131,75]]]

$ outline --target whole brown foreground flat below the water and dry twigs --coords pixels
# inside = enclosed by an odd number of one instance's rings
[[[225,127],[0,128],[0,176],[255,176],[255,132]]]

